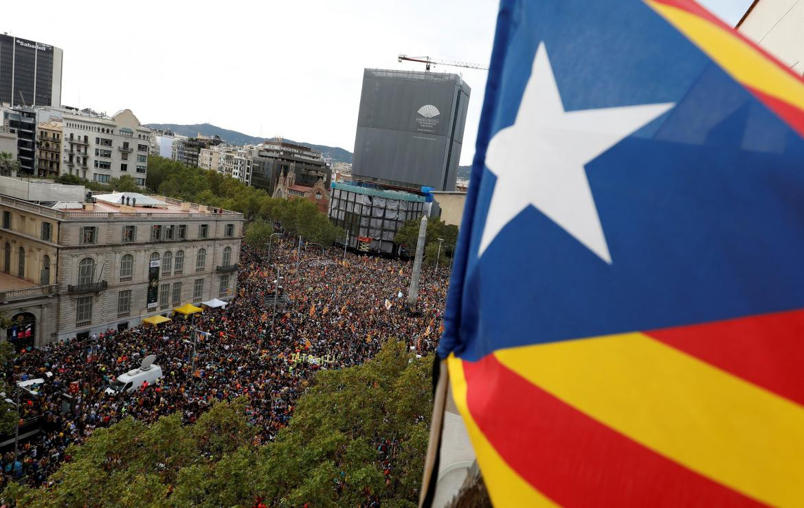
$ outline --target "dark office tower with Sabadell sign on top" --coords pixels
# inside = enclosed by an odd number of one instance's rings
[[[0,103],[61,105],[60,48],[0,35]]]

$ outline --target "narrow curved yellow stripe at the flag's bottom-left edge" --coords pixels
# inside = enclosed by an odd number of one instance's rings
[[[466,405],[466,377],[463,375],[461,360],[450,354],[447,367],[455,405],[463,416],[466,431],[472,440],[474,453],[478,455],[478,463],[481,465],[486,488],[494,506],[556,506],[511,469],[478,428]],[[535,453],[538,451],[535,450]]]

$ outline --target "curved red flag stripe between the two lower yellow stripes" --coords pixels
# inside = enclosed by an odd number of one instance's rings
[[[564,404],[493,355],[463,368],[480,430],[519,476],[560,505],[758,504]]]

